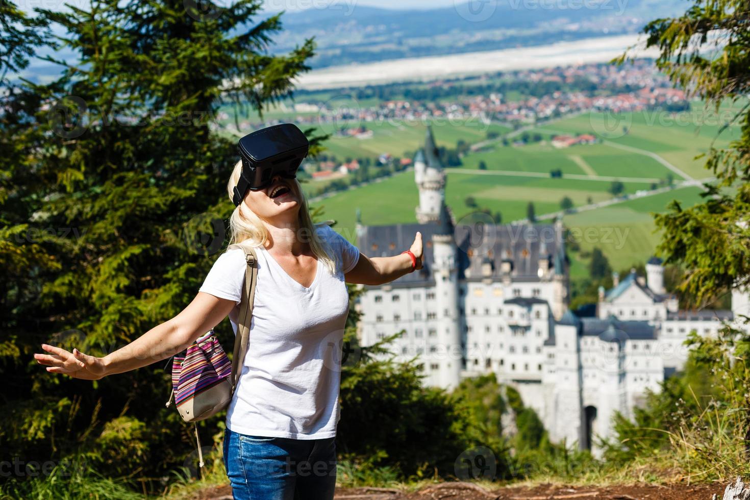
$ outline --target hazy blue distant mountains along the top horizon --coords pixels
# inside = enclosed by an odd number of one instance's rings
[[[431,10],[365,7],[356,0],[284,13],[275,51],[315,37],[313,67],[532,46],[634,33],[682,13],[685,0],[473,0]]]

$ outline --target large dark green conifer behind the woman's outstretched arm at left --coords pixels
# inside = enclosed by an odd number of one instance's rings
[[[184,460],[189,448],[167,445],[186,428],[163,409],[163,363],[92,387],[29,360],[43,342],[104,355],[196,294],[233,208],[226,182],[236,141],[214,132],[214,115],[224,103],[260,112],[289,96],[314,53],[304,40],[269,55],[281,18],[262,19],[261,6],[95,0],[40,10],[40,22],[65,29],[56,43],[76,60],[47,58],[62,76],[23,88],[33,127],[7,114],[1,122],[4,151],[19,151],[2,167],[1,230],[23,232],[4,238],[0,252],[0,265],[17,274],[0,296],[0,355],[4,372],[16,373],[2,403],[0,447],[10,454],[46,460],[52,446],[79,449],[105,474],[130,474],[146,460],[151,477]],[[32,34],[19,36],[33,42]],[[232,342],[226,325],[217,331]]]

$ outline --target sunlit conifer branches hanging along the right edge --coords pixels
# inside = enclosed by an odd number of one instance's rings
[[[704,185],[704,202],[655,216],[664,237],[658,250],[667,263],[681,265],[679,286],[694,304],[704,304],[732,286],[750,284],[750,10],[742,0],[694,4],[676,18],[655,19],[643,32],[657,47],[657,67],[690,97],[712,106],[739,106],[730,124],[741,135],[726,148],[712,147],[706,168],[715,184]],[[711,49],[706,50],[711,47]],[[618,59],[625,61],[626,55]],[[733,106],[734,107],[734,106]],[[728,124],[721,130],[728,127]],[[722,187],[733,190],[722,190]]]

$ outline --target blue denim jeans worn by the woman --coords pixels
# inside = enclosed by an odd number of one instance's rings
[[[236,500],[333,499],[335,438],[269,438],[226,429],[223,452]]]

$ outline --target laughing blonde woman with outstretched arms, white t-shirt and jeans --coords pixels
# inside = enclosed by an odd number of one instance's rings
[[[241,172],[242,161],[229,178],[229,199]],[[329,226],[314,226],[299,181],[281,176],[247,190],[229,228],[231,243],[258,254],[250,344],[223,443],[234,497],[332,499],[344,282],[380,285],[422,268],[422,235],[412,255],[369,259]],[[169,358],[226,316],[236,334],[245,266],[242,249],[226,251],[181,313],[104,358],[46,344],[49,354],[34,358],[51,373],[97,380]]]

